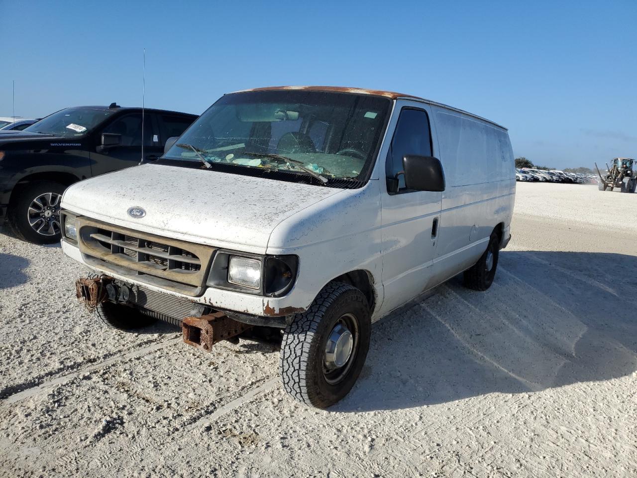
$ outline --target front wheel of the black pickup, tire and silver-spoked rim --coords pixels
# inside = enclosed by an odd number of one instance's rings
[[[33,181],[15,192],[7,219],[17,238],[36,244],[60,242],[60,203],[66,186]]]

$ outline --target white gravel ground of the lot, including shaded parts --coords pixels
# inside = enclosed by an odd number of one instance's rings
[[[383,319],[329,411],[267,345],[106,329],[59,247],[0,235],[0,476],[637,476],[636,218],[637,194],[519,184],[492,288]]]

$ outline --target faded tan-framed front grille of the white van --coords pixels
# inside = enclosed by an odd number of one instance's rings
[[[132,231],[85,217],[76,220],[78,245],[87,262],[108,272],[198,295],[215,249]]]

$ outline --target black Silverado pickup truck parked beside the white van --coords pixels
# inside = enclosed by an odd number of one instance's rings
[[[0,134],[0,226],[39,244],[60,240],[60,200],[76,181],[153,161],[197,115],[78,106]],[[142,138],[143,130],[143,138]]]

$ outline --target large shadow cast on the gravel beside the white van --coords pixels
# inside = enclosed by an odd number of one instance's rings
[[[637,370],[637,257],[505,251],[481,293],[461,276],[376,324],[361,378],[331,410],[391,410]]]

